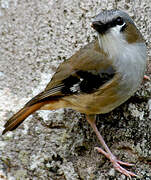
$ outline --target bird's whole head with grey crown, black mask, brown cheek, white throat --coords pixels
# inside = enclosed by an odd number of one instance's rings
[[[107,10],[99,13],[93,19],[92,27],[97,31],[100,46],[106,52],[111,48],[114,51],[122,51],[122,47],[127,44],[144,42],[133,20],[121,10]]]

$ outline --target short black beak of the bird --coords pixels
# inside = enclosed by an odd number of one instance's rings
[[[100,21],[93,21],[91,27],[100,34],[105,34],[105,32],[108,30],[107,25]]]

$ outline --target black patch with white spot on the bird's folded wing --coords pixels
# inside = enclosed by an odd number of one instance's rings
[[[79,70],[74,75],[70,75],[63,80],[64,87],[61,92],[65,95],[93,93],[100,86],[111,80],[114,75],[115,70],[111,66],[100,72]]]

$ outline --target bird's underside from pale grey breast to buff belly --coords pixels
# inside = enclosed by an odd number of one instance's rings
[[[114,75],[111,74],[111,79],[97,87],[94,92],[66,96],[69,107],[85,114],[107,113],[134,94],[142,82],[145,71],[145,45],[142,43],[125,47],[123,52],[114,56],[112,62]],[[96,83],[97,81],[94,84]]]

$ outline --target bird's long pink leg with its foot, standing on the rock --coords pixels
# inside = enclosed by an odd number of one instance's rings
[[[122,174],[128,176],[129,178],[131,178],[131,176],[136,176],[136,174],[126,170],[125,168],[123,168],[121,165],[124,165],[124,166],[133,166],[133,164],[129,164],[127,162],[122,162],[122,161],[119,161],[117,160],[117,158],[111,153],[110,149],[108,148],[108,146],[106,145],[103,137],[101,136],[101,134],[99,133],[97,127],[96,127],[96,124],[95,124],[95,115],[87,115],[86,116],[87,118],[87,121],[89,122],[89,124],[91,125],[92,129],[94,130],[95,134],[97,135],[101,145],[103,146],[104,150],[102,148],[95,148],[97,149],[98,152],[104,154],[106,156],[106,158],[108,158],[112,164],[113,164],[113,167],[121,172]]]

